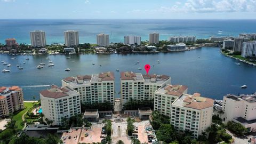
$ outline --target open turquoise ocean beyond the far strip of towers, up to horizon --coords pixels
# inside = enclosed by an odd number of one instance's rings
[[[139,35],[148,40],[148,34],[157,31],[160,39],[175,35],[193,35],[197,38],[210,36],[238,36],[240,33],[256,33],[256,20],[88,20],[43,19],[0,20],[0,43],[6,38],[16,38],[18,43],[30,44],[29,31],[44,30],[46,43],[64,43],[65,30],[79,31],[80,43],[96,43],[96,35],[110,35],[110,42],[123,42],[124,35]],[[218,34],[222,30],[222,34]]]

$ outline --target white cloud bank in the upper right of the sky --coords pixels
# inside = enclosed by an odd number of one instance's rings
[[[187,0],[176,2],[172,6],[161,6],[153,10],[132,10],[128,13],[220,13],[220,12],[256,12],[256,0]]]

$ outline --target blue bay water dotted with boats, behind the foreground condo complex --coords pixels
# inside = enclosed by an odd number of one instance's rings
[[[198,58],[200,56],[200,58]],[[115,74],[115,91],[118,98],[120,91],[120,72],[132,70],[145,74],[143,68],[151,65],[150,74],[164,74],[171,76],[172,84],[188,86],[188,93],[199,92],[203,96],[222,99],[228,93],[253,93],[256,91],[256,67],[227,58],[220,53],[217,47],[203,47],[193,51],[152,53],[152,54],[82,54],[66,59],[65,55],[17,55],[0,54],[0,61],[11,63],[11,73],[0,73],[0,86],[21,86],[25,100],[33,100],[33,95],[39,99],[39,91],[49,89],[51,84],[61,85],[61,79],[68,76],[98,74],[102,71],[113,71]],[[30,60],[25,60],[29,57]],[[53,67],[45,66],[37,69],[43,61],[48,63],[50,57],[55,64]],[[75,60],[76,62],[71,62]],[[159,60],[161,63],[157,63]],[[26,61],[23,64],[23,61]],[[135,62],[140,61],[138,65]],[[19,63],[24,69],[19,70]],[[92,65],[95,63],[95,65]],[[99,65],[102,65],[100,67]],[[155,65],[153,67],[153,65]],[[0,65],[0,70],[6,69]],[[70,68],[70,71],[65,71]],[[117,72],[116,69],[120,71]],[[247,89],[240,86],[247,85]]]

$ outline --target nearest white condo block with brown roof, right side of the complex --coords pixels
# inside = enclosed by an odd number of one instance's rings
[[[182,94],[172,103],[171,124],[175,129],[190,131],[198,138],[212,124],[214,100],[194,95]]]

